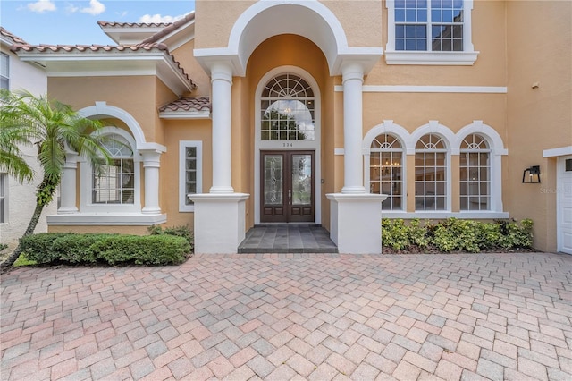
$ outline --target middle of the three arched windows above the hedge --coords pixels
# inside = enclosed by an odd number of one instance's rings
[[[443,138],[434,133],[422,136],[415,147],[415,208],[446,210],[447,153]]]

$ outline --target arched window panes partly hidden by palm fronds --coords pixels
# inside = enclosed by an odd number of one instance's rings
[[[112,135],[105,141],[112,157],[109,165],[93,172],[92,202],[94,204],[133,204],[135,197],[135,164],[127,140]]]

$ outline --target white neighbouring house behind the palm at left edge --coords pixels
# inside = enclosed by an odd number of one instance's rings
[[[26,44],[26,41],[0,27],[2,89],[25,89],[36,96],[45,95],[47,76],[44,69],[35,63],[21,62],[18,55],[10,50],[14,45],[21,44]],[[18,244],[18,239],[28,227],[36,207],[36,188],[41,180],[37,148],[21,147],[21,152],[37,176],[32,182],[20,183],[0,171],[0,243],[7,244],[9,250]],[[54,199],[42,212],[35,232],[47,232],[46,216],[56,213],[57,201]]]

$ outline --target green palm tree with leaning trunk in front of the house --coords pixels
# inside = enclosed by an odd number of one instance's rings
[[[20,182],[30,180],[33,173],[21,158],[19,145],[33,144],[38,148],[42,181],[36,190],[36,207],[23,234],[34,233],[44,207],[54,198],[65,165],[66,151],[77,152],[98,168],[109,163],[104,138],[93,134],[101,128],[74,111],[71,106],[29,92],[0,92],[0,169],[4,168]],[[11,267],[21,254],[21,245],[0,264]]]

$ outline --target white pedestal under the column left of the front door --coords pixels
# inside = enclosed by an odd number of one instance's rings
[[[195,203],[195,252],[233,254],[246,234],[247,193],[189,195]]]

